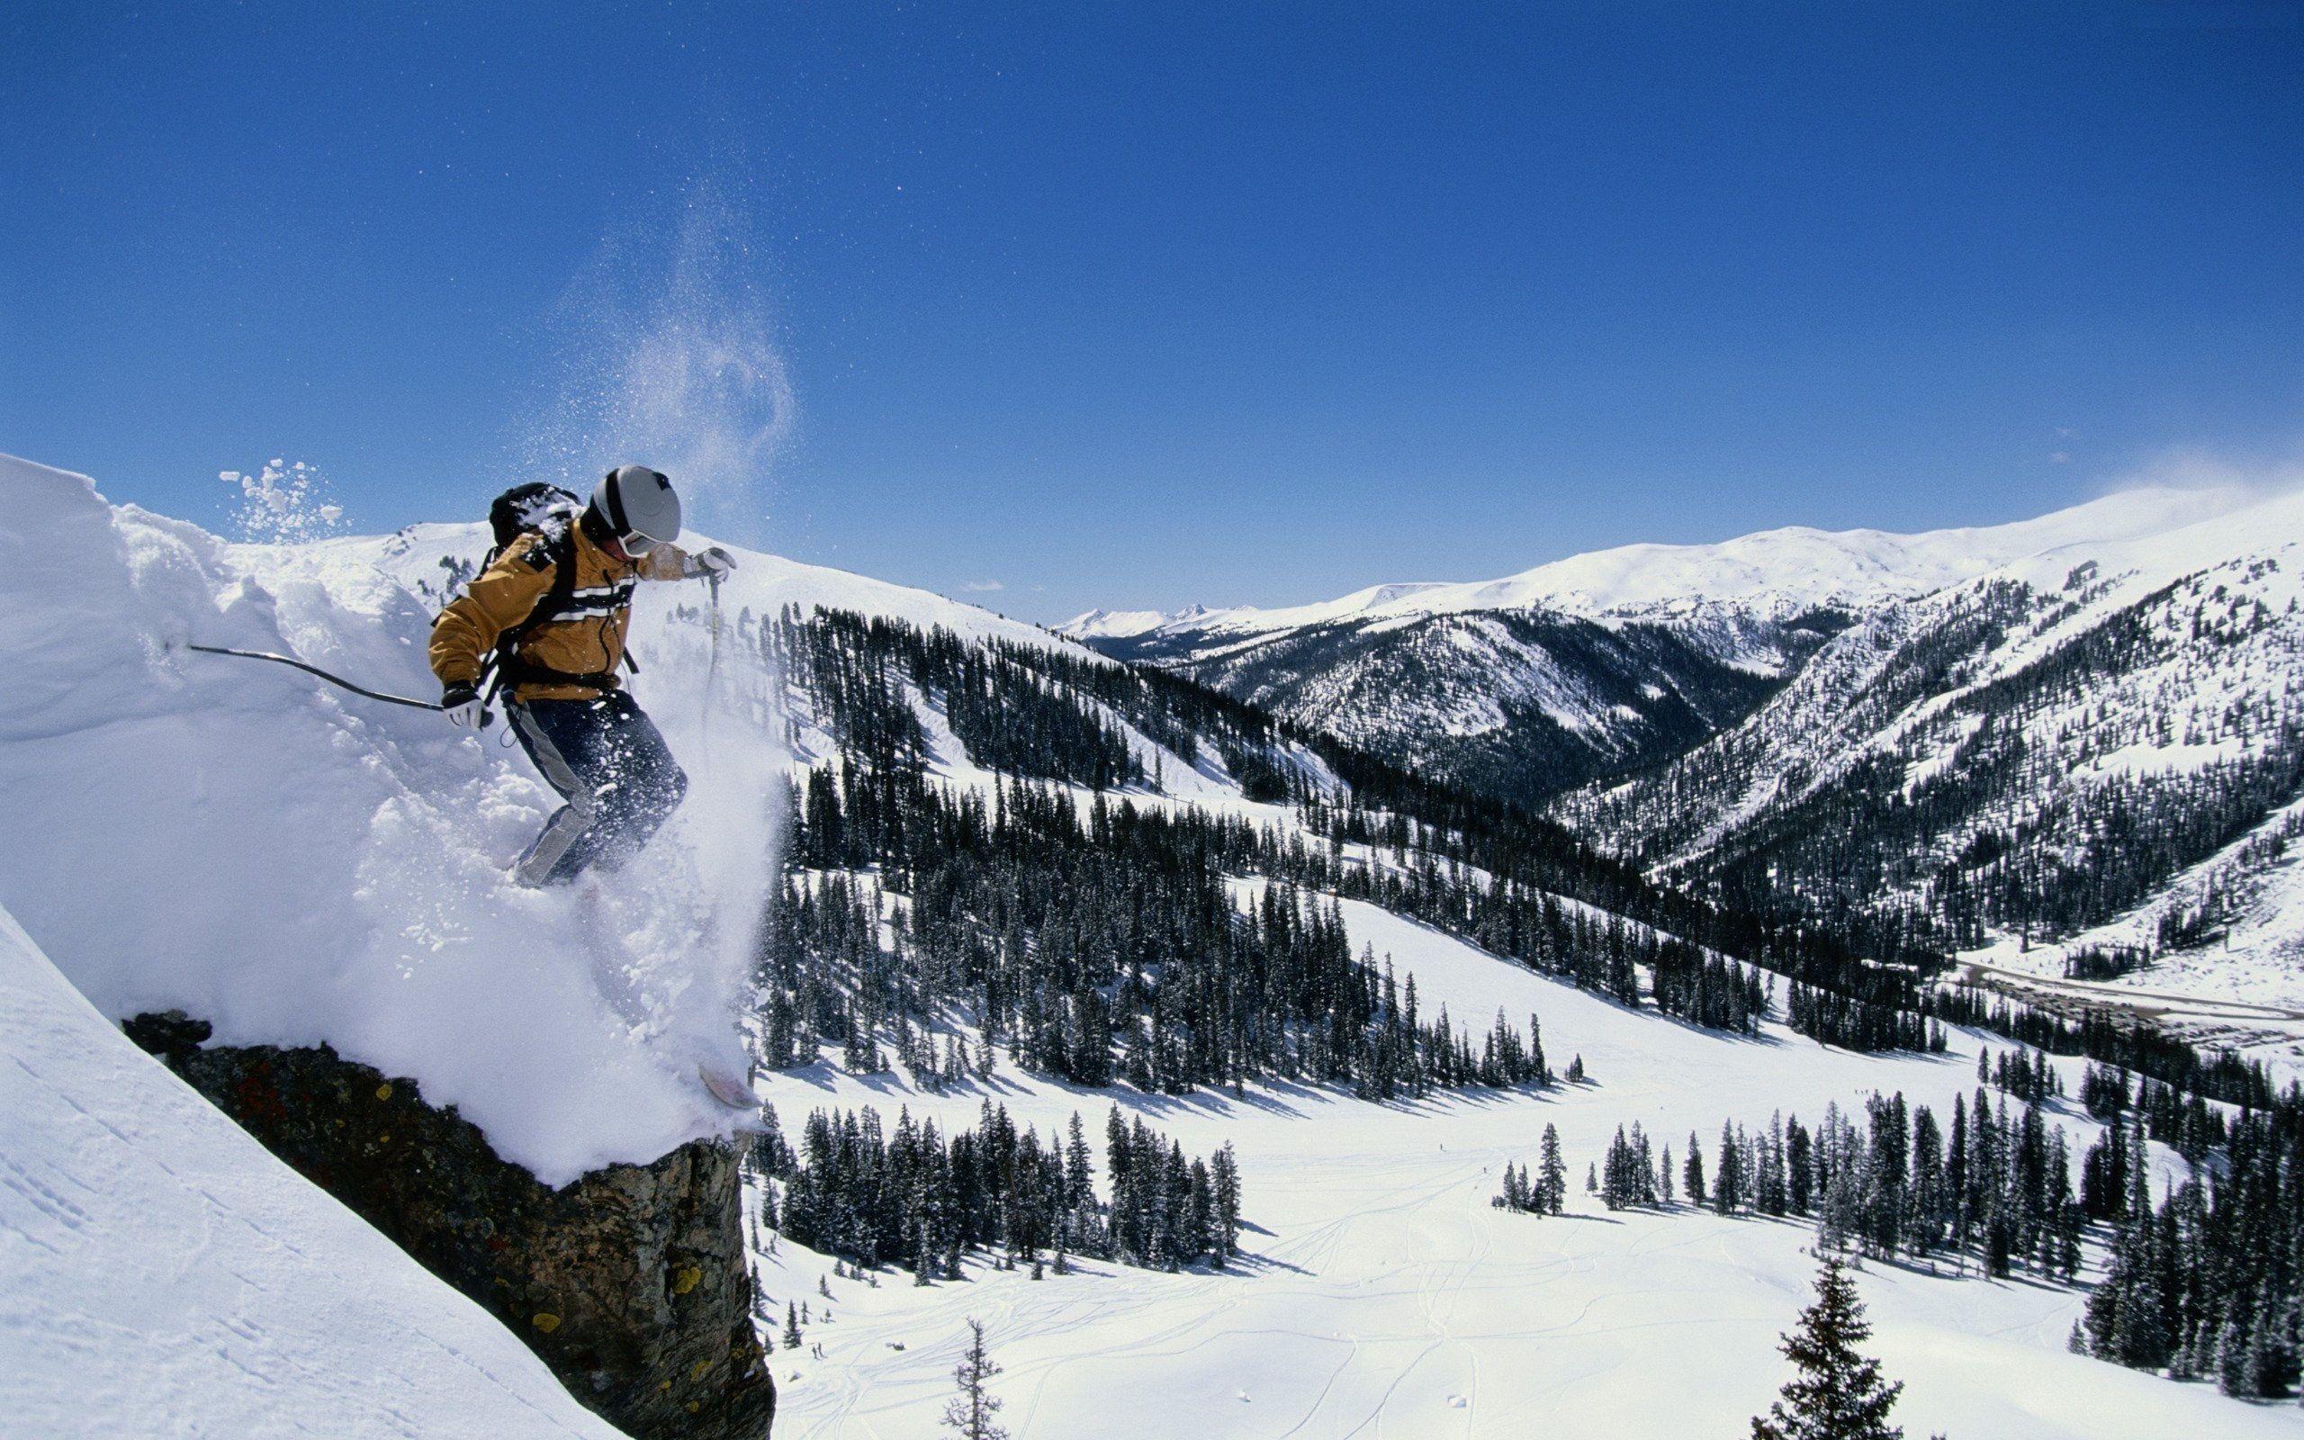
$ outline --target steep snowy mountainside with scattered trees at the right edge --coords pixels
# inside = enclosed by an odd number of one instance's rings
[[[1873,608],[1746,721],[1558,809],[1687,880],[1917,912],[1988,963],[2304,1007],[2304,495]],[[2055,945],[2039,945],[2041,940]]]

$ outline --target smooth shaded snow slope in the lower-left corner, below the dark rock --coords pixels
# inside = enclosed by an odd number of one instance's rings
[[[615,1431],[138,1051],[0,910],[0,1431]]]

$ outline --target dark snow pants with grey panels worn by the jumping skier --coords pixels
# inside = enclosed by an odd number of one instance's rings
[[[505,712],[521,749],[567,802],[514,866],[523,885],[564,885],[590,864],[617,869],[689,793],[657,723],[624,691],[511,703]]]

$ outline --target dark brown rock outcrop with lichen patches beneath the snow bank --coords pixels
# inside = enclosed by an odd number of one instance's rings
[[[498,1316],[611,1424],[641,1440],[767,1435],[776,1389],[751,1325],[728,1145],[546,1189],[454,1108],[327,1046],[205,1046],[207,1023],[175,1011],[127,1032]]]

